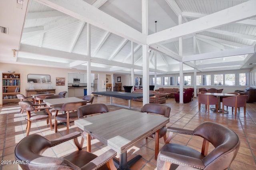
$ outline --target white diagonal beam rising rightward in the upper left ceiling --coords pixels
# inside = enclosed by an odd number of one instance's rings
[[[22,34],[22,40],[33,37],[33,36],[38,35],[40,33],[45,33],[47,31],[50,31],[51,29],[61,27],[62,25],[74,22],[76,20],[77,20],[76,18],[73,18],[73,17],[70,17],[70,16],[65,16],[61,19],[54,20],[54,21],[51,21],[49,23],[46,23],[45,25],[43,25],[44,29],[41,29],[39,31],[34,31],[32,28],[24,28],[25,32],[23,32],[23,34]],[[28,29],[28,31],[27,31],[27,29]]]

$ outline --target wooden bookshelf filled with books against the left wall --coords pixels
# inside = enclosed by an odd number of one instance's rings
[[[2,73],[3,106],[17,104],[20,100],[16,94],[20,94],[20,74]]]

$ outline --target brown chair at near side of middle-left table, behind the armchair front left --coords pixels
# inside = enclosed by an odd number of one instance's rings
[[[60,110],[56,110],[55,116],[54,116],[54,130],[55,133],[57,133],[57,121],[60,122],[66,122],[67,123],[67,131],[66,134],[69,132],[69,123],[72,121],[75,121],[78,119],[78,113],[77,110],[78,107],[86,105],[86,101],[84,102],[72,102],[72,103],[65,103],[62,105]],[[66,113],[58,115],[58,111],[65,111]]]

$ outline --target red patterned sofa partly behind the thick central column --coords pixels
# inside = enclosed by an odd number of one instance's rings
[[[143,93],[143,90],[135,90],[132,93]],[[149,94],[154,94],[155,96],[149,97],[149,102],[150,103],[157,103],[157,104],[162,104],[166,102],[165,94],[156,92],[153,90],[149,90]],[[136,98],[134,101],[140,101],[143,102],[143,98]]]

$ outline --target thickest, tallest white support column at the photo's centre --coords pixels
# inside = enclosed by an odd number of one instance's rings
[[[142,34],[148,35],[148,0],[142,0]],[[143,106],[149,103],[149,57],[148,45],[142,45]]]

